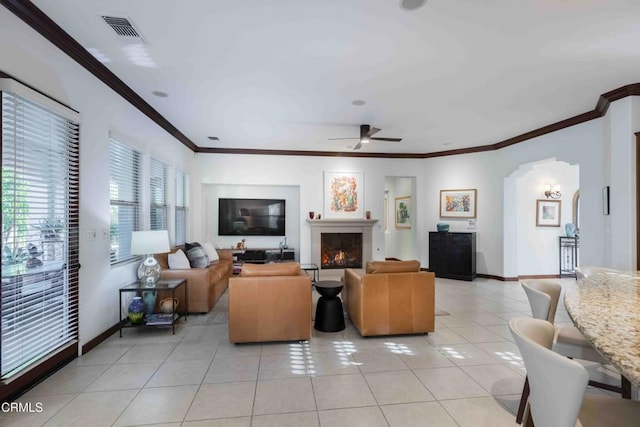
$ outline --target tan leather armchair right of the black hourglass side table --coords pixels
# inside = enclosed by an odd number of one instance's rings
[[[433,332],[435,275],[419,261],[369,261],[346,269],[342,299],[362,336]]]

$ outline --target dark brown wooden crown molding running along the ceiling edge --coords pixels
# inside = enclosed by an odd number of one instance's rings
[[[44,36],[47,40],[60,48],[87,71],[100,79],[104,84],[122,96],[130,104],[140,110],[143,114],[153,120],[161,128],[166,130],[171,136],[176,138],[195,153],[209,154],[244,154],[244,155],[273,155],[273,156],[320,156],[320,157],[375,157],[389,159],[426,159],[432,157],[453,156],[459,154],[480,153],[484,151],[495,151],[514,144],[518,144],[529,139],[537,138],[552,132],[559,131],[571,126],[578,125],[593,119],[603,117],[609,105],[628,96],[640,96],[640,83],[632,83],[614,89],[600,95],[593,110],[587,111],[577,116],[569,117],[559,122],[543,126],[539,129],[525,132],[521,135],[496,142],[494,144],[481,145],[476,147],[461,148],[457,150],[437,151],[430,153],[364,153],[364,152],[339,152],[339,151],[304,151],[304,150],[258,150],[243,148],[207,148],[198,147],[193,141],[187,138],[175,126],[173,126],[164,116],[149,105],[140,95],[127,86],[115,74],[113,74],[100,61],[87,52],[73,37],[66,33],[58,24],[49,18],[44,12],[38,9],[29,0],[0,0],[0,4],[9,9],[27,25]]]

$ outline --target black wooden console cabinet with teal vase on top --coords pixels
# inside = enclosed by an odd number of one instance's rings
[[[429,232],[429,271],[436,277],[476,278],[476,233]]]

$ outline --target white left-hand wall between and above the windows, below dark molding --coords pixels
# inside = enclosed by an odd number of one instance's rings
[[[109,132],[182,170],[191,168],[193,153],[3,7],[0,58],[0,71],[80,112],[82,346],[118,322],[118,288],[136,277],[137,263],[109,262]],[[97,232],[95,240],[88,230]]]

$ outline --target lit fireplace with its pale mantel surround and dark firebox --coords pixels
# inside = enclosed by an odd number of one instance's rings
[[[364,268],[373,256],[372,229],[377,222],[377,219],[307,220],[311,229],[311,262],[320,267],[320,280],[340,280],[345,268]],[[336,236],[337,242],[326,241]],[[327,243],[332,243],[334,249],[325,251],[323,246]],[[355,249],[356,245],[359,249]],[[351,264],[341,265],[347,261]]]

